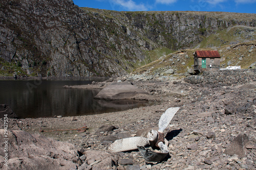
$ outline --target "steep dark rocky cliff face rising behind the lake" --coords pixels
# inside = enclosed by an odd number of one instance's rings
[[[146,51],[193,47],[217,30],[255,27],[255,18],[256,14],[80,9],[71,0],[2,0],[0,57],[27,75],[121,76],[144,61]]]

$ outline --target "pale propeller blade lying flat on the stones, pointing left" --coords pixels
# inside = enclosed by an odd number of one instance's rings
[[[138,149],[137,146],[144,146],[146,144],[149,144],[150,141],[148,141],[145,137],[129,137],[124,139],[119,139],[114,141],[110,147],[110,152],[124,152],[124,151],[131,151]]]

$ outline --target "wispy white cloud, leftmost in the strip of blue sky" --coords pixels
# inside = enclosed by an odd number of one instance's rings
[[[147,11],[148,8],[144,4],[136,4],[132,0],[111,0],[112,3],[123,7],[129,11]]]

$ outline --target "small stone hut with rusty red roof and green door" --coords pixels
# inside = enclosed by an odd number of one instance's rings
[[[196,51],[194,55],[194,70],[196,72],[219,70],[220,58],[218,51]]]

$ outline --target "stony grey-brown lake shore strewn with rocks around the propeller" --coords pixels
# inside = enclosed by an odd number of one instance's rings
[[[230,83],[221,82],[219,77],[211,77],[208,82],[203,77],[204,81],[195,83],[191,77],[129,75],[68,87],[103,88],[118,80],[129,81],[150,93],[147,100],[159,104],[97,115],[10,119],[8,130],[72,143],[79,157],[79,161],[73,161],[74,169],[256,169],[255,75],[254,79],[245,77],[246,81]],[[108,152],[116,139],[141,136],[148,129],[157,128],[160,116],[169,107],[180,110],[165,130],[170,153],[162,162],[147,162],[138,151]],[[72,130],[84,126],[88,128],[85,132]],[[228,152],[234,143],[239,147]]]

